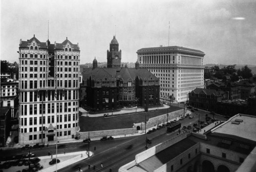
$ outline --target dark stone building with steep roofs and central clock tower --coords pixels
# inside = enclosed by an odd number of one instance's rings
[[[159,104],[159,79],[146,69],[121,67],[121,50],[115,36],[107,52],[107,68],[99,68],[96,58],[93,68],[83,73],[81,102],[91,111],[113,110],[137,104]]]

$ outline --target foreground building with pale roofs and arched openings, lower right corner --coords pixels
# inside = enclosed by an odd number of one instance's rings
[[[137,154],[118,171],[256,171],[255,122],[255,116],[237,114],[200,133],[176,135]]]

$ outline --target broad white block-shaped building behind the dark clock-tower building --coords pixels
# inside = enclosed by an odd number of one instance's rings
[[[187,94],[204,87],[204,52],[184,47],[142,48],[137,51],[141,68],[160,80],[160,98],[185,102]]]

